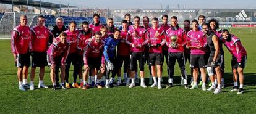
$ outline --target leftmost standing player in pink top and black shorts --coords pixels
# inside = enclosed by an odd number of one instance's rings
[[[27,80],[28,68],[30,66],[30,28],[27,26],[28,19],[26,15],[20,15],[20,25],[12,31],[11,49],[17,67],[17,77],[19,80],[19,89],[25,91],[23,81]]]

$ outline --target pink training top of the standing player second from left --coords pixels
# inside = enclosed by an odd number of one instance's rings
[[[31,45],[32,51],[45,52],[48,49],[48,41],[50,31],[45,26],[41,27],[36,25],[31,28]]]

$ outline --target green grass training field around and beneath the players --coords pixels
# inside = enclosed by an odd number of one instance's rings
[[[111,89],[71,88],[35,89],[20,91],[17,81],[17,68],[11,54],[10,40],[0,40],[0,113],[255,113],[256,102],[256,29],[232,28],[231,33],[241,38],[247,50],[247,66],[244,70],[245,92],[228,92],[232,88],[231,54],[224,47],[226,74],[221,94],[213,94],[202,89],[189,90],[181,83],[181,75],[176,65],[173,88],[128,88],[126,86]],[[190,68],[187,63],[190,81]],[[148,67],[145,66],[148,78]],[[30,78],[28,78],[29,80]],[[70,71],[70,83],[72,71]],[[166,65],[163,68],[163,83],[167,84]],[[29,83],[29,82],[28,82]],[[148,83],[148,79],[146,79]],[[38,84],[36,70],[35,86]],[[46,68],[45,84],[51,86],[49,68]]]

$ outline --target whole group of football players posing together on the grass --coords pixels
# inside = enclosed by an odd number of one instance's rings
[[[145,16],[140,25],[139,16],[133,17],[132,23],[131,15],[126,14],[121,22],[122,26],[116,28],[113,18],[107,19],[106,26],[101,25],[99,19],[100,15],[94,14],[93,23],[84,21],[80,29],[77,29],[75,21],[71,21],[67,29],[64,20],[58,17],[53,30],[49,30],[45,26],[43,15],[38,16],[38,23],[32,28],[27,26],[27,16],[21,15],[20,25],[14,28],[11,36],[11,49],[17,66],[19,89],[22,91],[26,88],[35,89],[33,80],[36,67],[40,68],[38,88],[48,88],[43,83],[46,66],[50,66],[51,69],[53,90],[58,87],[69,89],[71,63],[74,66],[73,88],[103,88],[103,86],[111,88],[121,84],[132,88],[135,83],[147,88],[145,63],[148,64],[150,71],[148,83],[151,88],[156,86],[158,89],[162,88],[163,71],[168,73],[169,78],[166,88],[171,88],[177,60],[184,88],[196,89],[200,85],[203,91],[219,94],[221,88],[224,88],[224,44],[232,55],[234,88],[230,91],[237,91],[237,94],[244,92],[243,70],[247,52],[239,38],[228,30],[219,28],[217,20],[210,19],[206,22],[205,17],[200,15],[198,20],[194,19],[191,23],[190,20],[184,20],[184,28],[181,28],[176,16],[169,18],[168,15],[163,15],[161,25],[158,18],[154,17],[150,20]],[[163,69],[164,58],[168,66],[167,70]],[[192,75],[190,88],[185,66],[187,60]],[[30,84],[27,84],[30,63],[32,63]],[[61,69],[60,81],[59,69]],[[140,81],[137,76],[138,69]],[[208,89],[207,73],[210,82]],[[114,80],[116,75],[117,81]],[[77,83],[77,76],[80,84]]]

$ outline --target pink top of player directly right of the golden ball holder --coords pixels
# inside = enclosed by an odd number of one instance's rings
[[[201,47],[200,49],[191,47],[190,52],[191,54],[202,55],[205,54],[205,47],[207,45],[207,37],[203,33],[203,31],[194,31],[190,30],[187,33],[187,45],[194,46],[194,47]]]

